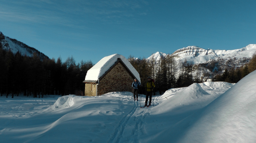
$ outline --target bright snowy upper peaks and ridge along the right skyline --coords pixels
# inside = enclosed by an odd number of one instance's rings
[[[209,60],[217,60],[217,59],[224,59],[229,60],[230,58],[251,58],[253,53],[256,52],[256,44],[249,44],[246,47],[241,49],[235,50],[212,50],[212,49],[203,49],[197,46],[188,46],[181,49],[176,50],[171,55],[175,56],[175,59],[191,62],[192,64],[201,64],[205,63]],[[147,59],[154,59],[157,61],[160,59],[161,56],[166,57],[167,54],[162,52],[156,52],[155,54],[151,55]]]

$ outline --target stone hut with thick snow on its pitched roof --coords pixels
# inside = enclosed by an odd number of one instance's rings
[[[85,96],[100,96],[108,92],[132,91],[134,79],[140,76],[131,63],[122,55],[114,54],[102,58],[87,71]]]

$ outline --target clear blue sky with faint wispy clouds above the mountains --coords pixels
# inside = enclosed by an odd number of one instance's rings
[[[255,0],[0,0],[0,31],[49,58],[149,57],[256,44]]]

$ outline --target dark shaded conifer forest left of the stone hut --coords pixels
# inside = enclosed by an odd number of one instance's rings
[[[67,66],[68,65],[68,66]],[[62,63],[59,57],[43,60],[38,53],[33,57],[15,55],[0,48],[0,94],[43,97],[44,95],[84,95],[87,71],[93,66],[91,61],[75,64],[73,57]]]

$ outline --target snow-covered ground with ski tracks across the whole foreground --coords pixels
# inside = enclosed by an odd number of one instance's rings
[[[256,142],[256,71],[238,83],[194,83],[140,108],[131,92],[0,97],[0,142]]]

